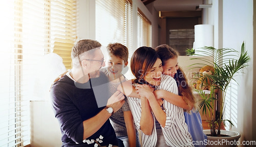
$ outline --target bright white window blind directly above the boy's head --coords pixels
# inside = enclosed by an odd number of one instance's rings
[[[129,49],[129,61],[134,52],[133,11],[129,0],[96,0],[96,40],[103,46],[121,43]],[[102,49],[106,54],[106,50]],[[125,74],[131,78],[131,71]]]

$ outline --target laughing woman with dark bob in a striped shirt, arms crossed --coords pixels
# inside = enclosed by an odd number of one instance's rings
[[[157,102],[154,90],[165,90],[178,95],[174,78],[162,74],[162,62],[155,49],[142,46],[131,58],[131,70],[136,79],[122,83],[118,90],[128,94],[141,146],[193,146],[185,123],[183,108],[166,100]],[[124,90],[124,91],[123,91]],[[135,93],[131,97],[131,93]],[[127,95],[126,95],[127,96]]]

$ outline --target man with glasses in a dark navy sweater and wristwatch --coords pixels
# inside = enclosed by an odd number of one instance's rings
[[[72,48],[73,68],[51,88],[52,106],[62,146],[117,146],[109,117],[124,103],[117,91],[110,98],[101,44],[80,40]]]

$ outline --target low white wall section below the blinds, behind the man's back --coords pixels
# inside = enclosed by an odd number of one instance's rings
[[[60,147],[61,132],[49,101],[31,101],[31,147]]]

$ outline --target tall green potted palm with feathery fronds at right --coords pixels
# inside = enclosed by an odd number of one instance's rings
[[[207,60],[204,56],[212,56],[214,54],[212,61]],[[234,54],[236,53],[236,54]],[[214,68],[214,74],[202,74],[196,73],[194,75],[194,79],[201,80],[201,86],[210,86],[210,93],[205,94],[205,92],[201,89],[196,90],[198,94],[201,96],[202,100],[199,103],[199,109],[203,110],[203,115],[208,113],[208,123],[210,130],[205,130],[205,134],[209,139],[223,139],[216,137],[225,137],[225,133],[227,131],[221,130],[221,126],[226,122],[233,126],[230,120],[224,120],[223,114],[225,111],[225,98],[229,83],[231,80],[234,80],[234,76],[238,73],[243,73],[242,69],[246,68],[248,62],[251,60],[247,51],[244,48],[244,42],[241,46],[241,52],[236,51],[232,48],[221,48],[216,49],[214,47],[202,47],[202,50],[198,51],[194,54],[195,57],[190,58],[190,60],[198,60],[199,63],[193,64],[191,66],[202,67],[202,66],[211,66]],[[210,81],[210,82],[208,82]],[[205,85],[210,83],[210,85]],[[216,90],[218,90],[218,97],[216,97]],[[216,105],[218,105],[218,109],[215,110]],[[236,135],[238,139],[240,138],[240,134],[238,132],[229,131],[229,138],[233,138],[230,134]],[[225,139],[227,139],[226,137]],[[234,139],[234,138],[233,138]],[[217,146],[216,144],[208,144],[207,146]],[[224,146],[228,146],[224,145]],[[234,145],[236,146],[236,145]]]

